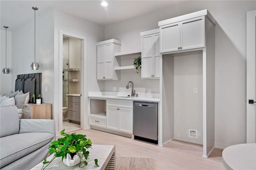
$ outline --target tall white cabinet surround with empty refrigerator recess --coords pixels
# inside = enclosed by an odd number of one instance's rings
[[[174,132],[177,129],[175,129],[175,127],[178,127],[174,126],[174,115],[177,115],[176,112],[186,114],[187,117],[185,117],[185,121],[182,122],[187,121],[191,123],[191,121],[198,121],[192,120],[192,107],[194,106],[190,107],[188,103],[197,102],[196,109],[200,110],[200,113],[195,114],[201,119],[201,121],[198,122],[202,130],[198,132],[198,138],[202,139],[202,156],[204,158],[207,158],[214,148],[215,25],[216,21],[208,10],[202,10],[158,22],[158,26],[160,26],[161,54],[159,117],[159,131],[161,135],[159,143],[164,144],[175,139]],[[192,57],[195,58],[194,61],[200,59],[200,62],[197,62],[197,64],[201,64],[201,70],[199,71],[201,72],[201,76],[199,76],[199,81],[194,78],[198,77],[198,74],[191,74],[194,70],[188,70],[186,66],[180,69],[180,65],[175,65],[175,62],[182,62],[182,64],[187,63],[187,66],[194,64],[194,62],[190,62]],[[184,59],[186,59],[186,61],[184,61]],[[198,67],[194,66],[194,68]],[[178,73],[175,72],[177,70]],[[184,70],[187,72],[184,72]],[[192,79],[184,80],[184,77]],[[187,86],[185,82],[193,83],[194,80],[196,80],[196,86],[198,86],[196,93],[198,92],[202,97],[200,100],[193,101],[193,95],[198,94],[193,92],[193,84],[191,84],[190,87]],[[175,81],[178,81],[178,83]],[[189,88],[186,89],[187,87]],[[178,94],[176,90],[180,90]],[[184,98],[180,99],[181,96]],[[188,100],[187,97],[192,100]],[[184,107],[189,108],[183,109]],[[198,122],[196,125],[198,125]],[[186,141],[186,139],[196,141],[196,138],[191,139],[189,137],[189,130],[193,127],[189,127],[186,123],[184,126],[186,129],[178,131],[180,134],[184,134],[184,141]],[[169,129],[169,131],[166,131],[166,129]]]

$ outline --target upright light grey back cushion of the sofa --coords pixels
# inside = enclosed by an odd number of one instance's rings
[[[19,133],[20,123],[16,106],[0,107],[0,137]],[[2,143],[1,143],[2,149]]]

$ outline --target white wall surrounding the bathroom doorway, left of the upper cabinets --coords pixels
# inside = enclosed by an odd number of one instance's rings
[[[83,74],[87,76],[87,91],[102,91],[104,90],[104,82],[97,82],[97,55],[96,43],[104,40],[104,26],[98,25],[91,21],[72,16],[70,14],[54,11],[54,104],[53,108],[54,119],[56,121],[56,131],[58,132],[59,111],[59,30],[67,31],[76,35],[81,35],[87,38],[87,66],[84,68]],[[62,84],[60,85],[62,86]],[[83,94],[87,96],[87,94]],[[86,106],[84,106],[86,107]],[[84,111],[86,113],[86,110]],[[60,129],[62,130],[62,129]]]

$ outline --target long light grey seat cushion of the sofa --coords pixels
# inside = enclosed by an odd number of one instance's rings
[[[54,138],[52,133],[21,133],[0,138],[0,168],[43,147]]]

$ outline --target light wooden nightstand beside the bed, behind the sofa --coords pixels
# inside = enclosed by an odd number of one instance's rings
[[[22,104],[22,119],[52,119],[52,104]]]

